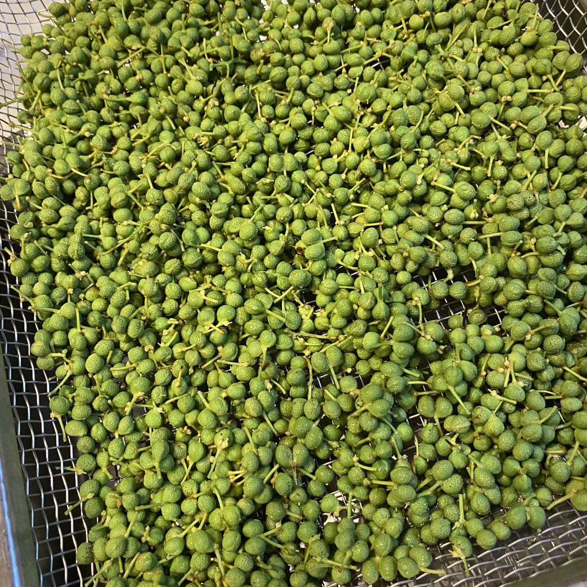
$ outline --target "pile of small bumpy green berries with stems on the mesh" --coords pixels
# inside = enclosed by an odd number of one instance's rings
[[[587,511],[587,77],[534,4],[49,12],[0,197],[90,582],[391,582]]]

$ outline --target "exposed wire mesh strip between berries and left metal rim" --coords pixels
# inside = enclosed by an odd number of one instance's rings
[[[4,235],[14,214],[2,207],[0,230]],[[8,254],[2,251],[2,266]],[[0,271],[0,345],[14,413],[28,509],[35,535],[36,561],[45,587],[80,585],[82,575],[75,565],[75,549],[85,536],[78,515],[66,517],[65,504],[77,499],[76,475],[64,471],[72,465],[73,447],[63,443],[56,422],[49,416],[46,374],[36,369],[30,344],[36,330],[32,313],[22,309],[11,292],[13,279]],[[14,480],[18,483],[19,480]]]

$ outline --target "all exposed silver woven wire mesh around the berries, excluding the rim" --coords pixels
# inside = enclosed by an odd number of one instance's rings
[[[537,2],[542,15],[551,18],[559,38],[565,39],[576,52],[587,56],[587,5],[585,0],[548,0]],[[14,98],[19,85],[19,56],[14,47],[23,34],[41,31],[41,14],[49,0],[11,2],[0,0],[0,102]],[[18,142],[22,132],[14,129],[18,105],[0,108],[0,156]],[[3,157],[0,157],[3,160]],[[0,162],[0,174],[6,167]],[[30,345],[38,328],[33,314],[12,289],[15,279],[7,271],[14,244],[7,238],[16,220],[11,205],[0,202],[0,350],[4,353],[6,379],[11,399],[26,500],[35,539],[36,563],[41,587],[82,586],[90,575],[89,567],[78,567],[75,550],[87,537],[87,524],[77,508],[66,515],[67,504],[79,495],[80,479],[66,470],[76,458],[75,447],[64,441],[59,424],[50,417],[48,391],[54,385],[47,373],[39,370],[31,357]],[[435,277],[437,278],[437,276]],[[427,319],[446,321],[453,313],[464,312],[461,302],[443,306]],[[500,313],[490,312],[490,322],[499,324]],[[415,430],[422,426],[419,416],[410,418]],[[18,480],[16,480],[18,482]],[[342,496],[341,496],[342,497]],[[475,549],[468,559],[469,573],[450,553],[448,544],[431,549],[433,567],[446,575],[423,574],[393,585],[405,587],[499,587],[541,571],[564,565],[587,555],[587,514],[579,515],[569,504],[561,504],[550,512],[546,527],[539,534],[529,528],[512,535],[507,544],[491,551]],[[29,564],[30,561],[25,561]],[[353,578],[357,587],[360,576]],[[324,587],[333,583],[326,582]]]

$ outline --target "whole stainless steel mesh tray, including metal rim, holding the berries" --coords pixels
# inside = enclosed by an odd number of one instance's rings
[[[0,103],[12,99],[18,89],[19,56],[14,46],[22,34],[41,30],[39,15],[49,4],[49,0],[0,0]],[[555,22],[559,38],[587,58],[587,0],[541,0],[538,5],[541,14]],[[17,112],[14,104],[0,109],[0,139],[6,143],[18,140],[18,132],[10,125]],[[0,146],[0,174],[6,171],[1,161],[9,148]],[[36,369],[30,354],[37,325],[12,291],[15,279],[6,270],[8,251],[13,248],[6,234],[15,218],[11,205],[0,203],[0,360],[4,358],[4,369],[0,366],[0,585],[83,586],[89,567],[76,565],[75,550],[86,539],[87,525],[79,508],[65,515],[66,504],[78,498],[80,480],[64,470],[73,464],[75,448],[63,442],[56,421],[49,416],[47,392],[53,383]],[[445,308],[438,318],[461,309],[460,305]],[[494,320],[500,321],[497,312]],[[585,586],[587,514],[579,515],[570,505],[561,504],[551,512],[540,534],[526,529],[512,535],[508,544],[475,552],[469,561],[469,576],[446,545],[437,551],[435,566],[444,568],[446,575],[421,575],[394,585],[500,587],[519,582],[520,587]]]

